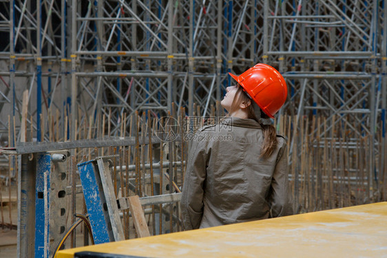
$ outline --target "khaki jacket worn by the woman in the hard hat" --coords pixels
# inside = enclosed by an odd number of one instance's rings
[[[262,127],[226,118],[193,137],[182,188],[185,230],[292,215],[286,140],[260,158]]]

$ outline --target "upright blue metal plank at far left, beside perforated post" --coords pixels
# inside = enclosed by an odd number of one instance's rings
[[[50,171],[51,155],[37,153],[35,192],[35,257],[50,252]]]

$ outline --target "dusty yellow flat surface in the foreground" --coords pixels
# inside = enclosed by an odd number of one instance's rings
[[[387,202],[61,250],[139,257],[387,257]]]

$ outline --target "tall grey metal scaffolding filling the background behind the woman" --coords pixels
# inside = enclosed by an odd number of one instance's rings
[[[125,117],[143,111],[211,116],[232,83],[228,72],[268,63],[289,87],[277,122],[290,117],[293,170],[306,136],[346,146],[366,137],[373,195],[386,184],[384,3],[2,0],[1,141],[65,142],[89,127],[85,138],[125,136]]]

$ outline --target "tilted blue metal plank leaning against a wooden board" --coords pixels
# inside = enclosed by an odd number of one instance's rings
[[[83,195],[89,214],[90,224],[92,226],[92,234],[95,244],[109,242],[109,233],[103,213],[103,201],[101,200],[98,185],[101,180],[97,180],[92,161],[87,161],[78,164],[79,176],[82,182]]]

